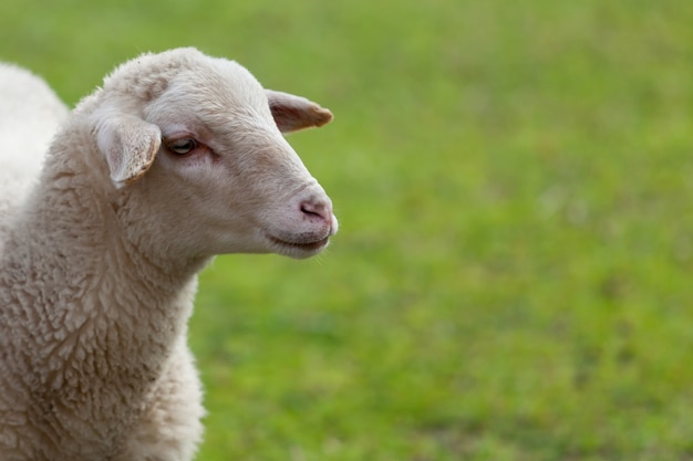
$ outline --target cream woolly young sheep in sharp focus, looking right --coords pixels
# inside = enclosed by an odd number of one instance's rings
[[[331,119],[190,48],[139,55],[77,104],[2,235],[1,460],[193,459],[197,273],[328,245],[332,203],[283,134]]]

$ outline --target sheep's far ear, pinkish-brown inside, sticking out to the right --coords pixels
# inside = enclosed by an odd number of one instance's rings
[[[281,133],[322,126],[332,122],[332,113],[301,96],[266,90],[269,108]]]

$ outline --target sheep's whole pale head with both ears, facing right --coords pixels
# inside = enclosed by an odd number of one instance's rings
[[[177,53],[116,70],[95,112],[122,226],[149,252],[187,258],[322,251],[338,229],[332,203],[282,130],[320,126],[329,111],[266,91],[235,62]],[[153,76],[118,87],[134,71]]]

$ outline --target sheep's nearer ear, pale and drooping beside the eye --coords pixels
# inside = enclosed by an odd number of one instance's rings
[[[132,115],[104,118],[96,129],[99,148],[118,189],[135,182],[149,169],[162,144],[158,126]]]

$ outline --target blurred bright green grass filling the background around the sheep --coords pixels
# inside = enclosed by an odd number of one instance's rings
[[[330,107],[310,261],[220,256],[199,460],[692,460],[693,3],[3,0],[70,104],[195,45]]]

